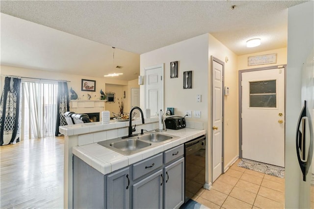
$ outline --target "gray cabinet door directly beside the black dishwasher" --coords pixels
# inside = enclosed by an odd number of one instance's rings
[[[164,169],[164,208],[178,209],[184,203],[184,157]]]

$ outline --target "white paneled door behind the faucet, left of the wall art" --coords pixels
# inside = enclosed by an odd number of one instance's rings
[[[151,115],[163,109],[163,64],[145,68],[145,109],[151,109]]]

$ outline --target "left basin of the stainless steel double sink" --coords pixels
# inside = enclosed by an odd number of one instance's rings
[[[138,139],[124,139],[122,141],[112,142],[110,143],[111,147],[114,147],[116,149],[122,150],[122,151],[133,151],[133,150],[139,150],[144,147],[151,146],[151,143],[140,141]]]

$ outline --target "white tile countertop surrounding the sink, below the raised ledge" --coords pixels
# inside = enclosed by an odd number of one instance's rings
[[[73,147],[72,152],[75,156],[105,175],[204,135],[206,131],[185,128],[181,130],[167,130],[164,133],[178,136],[179,138],[130,156],[116,153],[97,143]]]

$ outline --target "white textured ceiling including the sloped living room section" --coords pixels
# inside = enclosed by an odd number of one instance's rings
[[[131,80],[139,54],[204,33],[238,55],[287,47],[287,8],[303,2],[1,0],[1,65]]]

